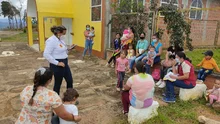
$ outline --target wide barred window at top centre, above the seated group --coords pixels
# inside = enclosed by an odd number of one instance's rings
[[[118,0],[120,13],[143,12],[145,0]]]

